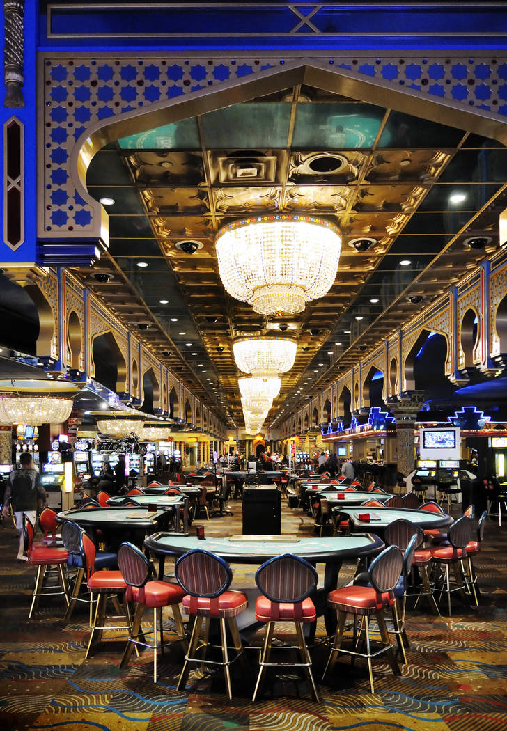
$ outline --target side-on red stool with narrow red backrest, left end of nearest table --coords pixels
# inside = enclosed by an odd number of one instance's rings
[[[95,616],[91,624],[91,635],[86,648],[85,659],[91,656],[97,649],[97,645],[102,640],[102,633],[105,629],[127,629],[129,634],[132,630],[132,622],[130,621],[130,613],[127,602],[125,601],[125,592],[127,584],[124,582],[121,572],[119,571],[96,571],[95,556],[97,549],[89,535],[84,531],[81,534],[81,558],[86,572],[86,586],[91,594],[97,594],[97,607],[95,608]],[[124,611],[121,611],[118,597],[123,597]],[[111,615],[106,612],[108,599],[111,599],[116,614]],[[124,618],[125,624],[109,625],[105,624],[107,618],[118,619]]]

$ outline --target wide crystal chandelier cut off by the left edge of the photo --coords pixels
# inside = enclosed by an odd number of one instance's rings
[[[61,424],[70,417],[70,398],[51,396],[2,396],[0,397],[0,422],[12,424]]]

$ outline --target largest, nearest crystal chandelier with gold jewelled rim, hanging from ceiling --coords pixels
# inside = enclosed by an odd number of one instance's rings
[[[280,316],[326,295],[337,276],[342,237],[323,219],[274,214],[223,227],[216,248],[226,291],[255,312]]]

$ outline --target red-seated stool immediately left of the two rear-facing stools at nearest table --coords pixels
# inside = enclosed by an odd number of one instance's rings
[[[135,645],[150,648],[153,650],[153,681],[157,683],[157,650],[159,647],[162,655],[164,654],[162,607],[173,608],[174,624],[176,624],[176,630],[179,639],[182,640],[184,650],[187,651],[187,639],[179,610],[179,602],[183,599],[184,591],[179,584],[153,580],[154,569],[149,558],[132,543],[121,544],[118,551],[118,564],[121,576],[127,584],[125,599],[128,602],[135,602],[137,605],[132,620],[132,632],[121,659],[120,667],[127,667]],[[139,639],[140,635],[144,637],[140,625],[146,607],[153,609],[152,645]],[[159,624],[160,645],[157,643],[157,624]]]

